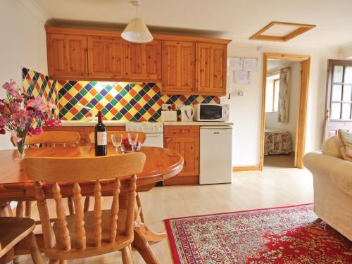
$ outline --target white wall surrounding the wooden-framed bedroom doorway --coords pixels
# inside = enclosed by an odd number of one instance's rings
[[[325,85],[327,59],[338,58],[339,50],[334,46],[291,46],[288,43],[268,43],[263,51],[249,44],[230,44],[227,56],[259,58],[258,73],[251,73],[251,84],[233,84],[232,92],[243,91],[244,96],[227,96],[222,103],[230,103],[230,121],[234,122],[233,161],[234,166],[258,165],[260,152],[260,113],[263,90],[263,52],[279,54],[303,54],[311,56],[308,92],[308,122],[306,152],[320,148],[325,113]]]

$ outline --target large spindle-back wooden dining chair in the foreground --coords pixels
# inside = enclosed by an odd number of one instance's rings
[[[122,251],[122,263],[132,263],[134,206],[137,173],[142,172],[144,153],[92,158],[25,158],[23,168],[34,180],[35,196],[44,234],[44,253],[50,263]],[[123,177],[124,181],[120,182]],[[101,209],[101,180],[114,179],[110,210]],[[95,181],[94,210],[84,212],[80,181]],[[44,182],[44,184],[42,183]],[[73,182],[75,214],[66,215],[58,182]],[[121,187],[122,186],[122,187]],[[51,225],[46,189],[56,202],[57,220]],[[87,191],[85,186],[84,192]]]

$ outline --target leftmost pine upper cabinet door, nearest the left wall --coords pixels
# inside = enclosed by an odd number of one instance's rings
[[[87,36],[46,34],[51,76],[87,76]]]

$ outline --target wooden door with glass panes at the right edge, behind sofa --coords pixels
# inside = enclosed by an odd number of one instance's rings
[[[329,60],[324,139],[352,131],[352,61]]]

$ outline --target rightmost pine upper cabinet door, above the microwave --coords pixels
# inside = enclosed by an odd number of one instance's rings
[[[196,91],[226,94],[227,45],[196,43]]]

